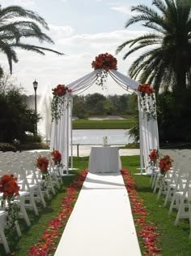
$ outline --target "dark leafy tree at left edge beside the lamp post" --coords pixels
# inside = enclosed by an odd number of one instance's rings
[[[35,131],[35,111],[28,108],[25,103],[25,95],[22,89],[11,88],[6,92],[0,92],[0,141],[10,142],[19,140],[23,142],[26,132]]]

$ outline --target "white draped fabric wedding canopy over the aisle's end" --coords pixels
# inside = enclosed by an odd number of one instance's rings
[[[51,141],[50,150],[59,150],[62,154],[62,164],[65,166],[66,171],[69,169],[69,156],[71,156],[72,167],[73,167],[73,155],[72,155],[72,96],[74,94],[83,93],[86,89],[91,87],[97,80],[97,72],[95,70],[75,80],[70,85],[67,85],[69,89],[72,89],[72,93],[66,93],[63,113],[61,119],[57,122],[54,120],[52,122],[51,128]],[[139,137],[140,137],[140,160],[141,160],[141,174],[143,169],[145,169],[146,174],[150,174],[149,165],[149,154],[153,149],[159,149],[159,135],[158,135],[158,125],[156,119],[148,119],[146,112],[142,109],[140,105],[140,93],[138,93],[137,88],[140,83],[135,80],[131,80],[129,77],[117,72],[116,70],[109,70],[108,74],[113,80],[117,82],[125,91],[131,89],[134,93],[138,94],[138,111],[139,111]],[[152,99],[146,97],[146,107],[147,111],[149,106],[153,106]],[[71,145],[71,155],[70,152]]]

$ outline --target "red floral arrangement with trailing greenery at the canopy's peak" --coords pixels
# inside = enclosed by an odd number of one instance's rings
[[[103,87],[104,82],[107,80],[108,71],[111,69],[117,70],[117,59],[112,54],[99,54],[96,59],[92,61],[91,67],[97,70],[97,85]]]

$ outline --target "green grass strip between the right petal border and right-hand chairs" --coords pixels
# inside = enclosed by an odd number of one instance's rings
[[[164,196],[161,196],[159,202],[156,202],[157,195],[152,193],[149,176],[138,176],[139,157],[121,157],[122,166],[132,171],[134,180],[136,180],[136,189],[138,196],[144,200],[144,206],[150,214],[147,219],[155,223],[160,233],[159,247],[163,249],[163,256],[190,256],[191,241],[189,241],[189,221],[180,219],[178,227],[174,226],[176,219],[176,210],[172,215],[168,215],[169,205],[163,208]]]

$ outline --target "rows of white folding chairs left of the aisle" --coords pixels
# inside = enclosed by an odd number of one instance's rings
[[[36,168],[36,158],[39,156],[49,158],[49,177],[48,180],[42,179],[42,173]],[[62,177],[58,176],[57,167],[54,166],[49,151],[44,152],[23,152],[23,153],[1,153],[0,154],[0,176],[3,174],[13,174],[18,178],[19,196],[15,203],[19,205],[19,218],[23,218],[28,227],[31,226],[26,209],[34,211],[39,215],[37,202],[46,207],[45,196],[50,198],[51,193],[56,194],[62,184]],[[47,183],[45,185],[45,182]],[[7,215],[6,201],[0,206],[0,242],[4,245],[6,253],[10,253],[5,236],[5,219]],[[19,223],[15,223],[18,236],[21,236]]]

